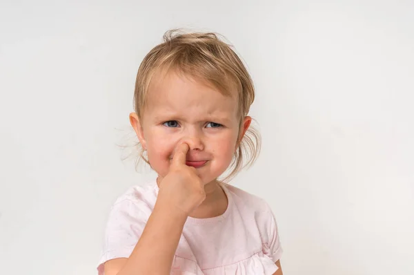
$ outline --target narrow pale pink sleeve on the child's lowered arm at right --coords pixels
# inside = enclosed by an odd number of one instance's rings
[[[280,245],[280,238],[279,238],[279,231],[277,229],[277,222],[275,219],[275,215],[273,214],[272,209],[267,205],[267,209],[265,211],[264,216],[265,218],[265,228],[263,231],[262,239],[263,243],[263,253],[270,257],[273,262],[279,260],[282,256],[283,249]]]

